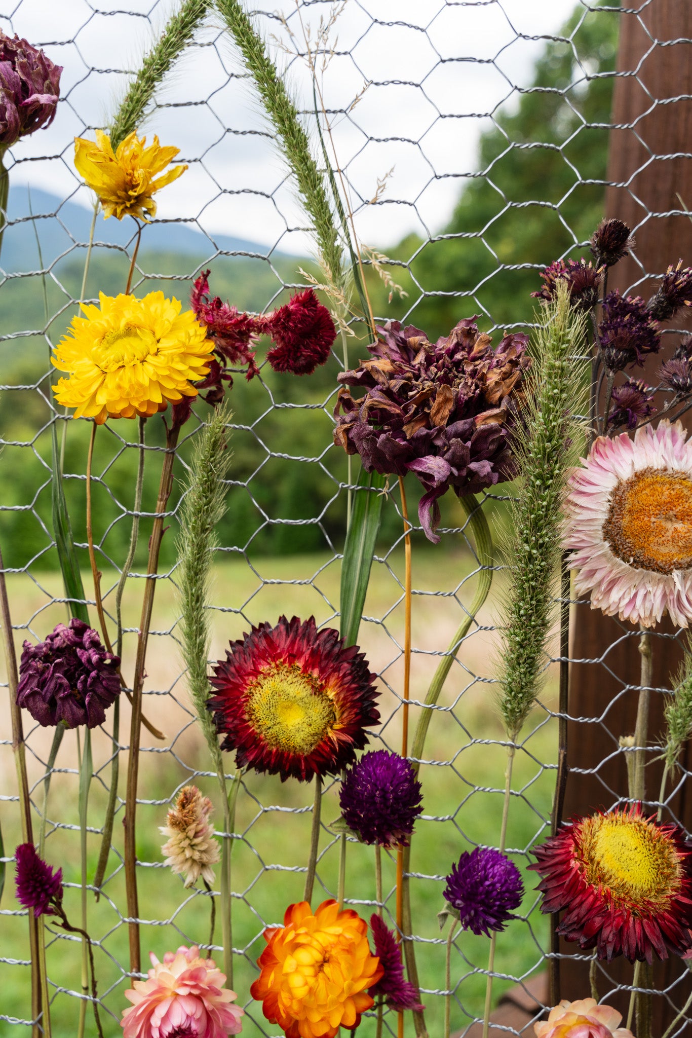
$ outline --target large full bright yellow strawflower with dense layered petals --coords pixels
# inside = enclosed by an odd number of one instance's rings
[[[196,397],[191,382],[204,378],[214,349],[206,329],[177,299],[150,292],[100,295],[100,306],[81,304],[84,317],[55,347],[51,362],[68,378],[53,392],[58,404],[76,408],[74,417],[103,425],[165,411],[168,401]]]

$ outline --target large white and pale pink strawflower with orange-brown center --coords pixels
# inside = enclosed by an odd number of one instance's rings
[[[692,440],[680,421],[600,436],[569,481],[564,547],[575,591],[607,617],[692,619]]]

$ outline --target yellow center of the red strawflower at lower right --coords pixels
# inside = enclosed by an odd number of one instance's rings
[[[667,903],[680,889],[675,845],[643,818],[612,814],[585,819],[580,856],[586,880],[630,906]]]

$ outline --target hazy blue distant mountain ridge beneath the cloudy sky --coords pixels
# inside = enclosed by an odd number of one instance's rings
[[[37,188],[31,189],[31,212],[40,240],[40,249],[46,267],[50,267],[64,253],[70,258],[83,256],[91,228],[91,211],[73,201],[63,201],[57,195]],[[30,214],[29,195],[26,186],[10,187],[7,206],[7,226],[0,253],[0,268],[7,273],[38,269],[38,249]],[[94,242],[107,245],[127,245],[134,231],[132,220],[106,222],[102,214],[96,218]],[[213,239],[185,223],[153,223],[146,228],[146,251],[184,254],[198,262],[214,256],[217,251],[241,255],[266,255],[267,247],[242,238],[216,235]],[[278,253],[285,255],[285,253]]]

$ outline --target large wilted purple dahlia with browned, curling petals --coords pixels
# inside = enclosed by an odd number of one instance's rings
[[[368,472],[414,472],[425,489],[418,518],[437,543],[438,498],[450,487],[461,497],[515,475],[508,432],[530,364],[528,338],[508,334],[493,349],[473,318],[435,345],[398,321],[378,331],[371,359],[338,377],[365,395],[339,391],[334,440]]]

